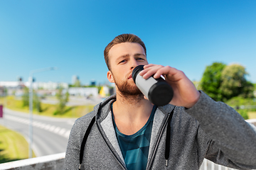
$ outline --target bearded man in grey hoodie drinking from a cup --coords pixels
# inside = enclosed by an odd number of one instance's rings
[[[197,91],[183,72],[149,64],[136,35],[117,36],[104,55],[107,79],[117,94],[76,120],[64,169],[199,169],[204,158],[256,169],[255,127],[225,103]],[[174,89],[171,103],[156,107],[144,98],[132,79],[138,65],[145,65],[139,73],[144,79],[165,77]]]

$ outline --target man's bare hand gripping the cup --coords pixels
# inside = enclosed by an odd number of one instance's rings
[[[148,79],[152,75],[155,79],[159,79],[163,75],[167,83],[174,89],[174,98],[170,102],[172,105],[191,108],[200,97],[200,92],[188,77],[173,67],[148,64],[144,66],[144,70],[139,75],[144,79]]]

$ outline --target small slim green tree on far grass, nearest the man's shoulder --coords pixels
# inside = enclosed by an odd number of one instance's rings
[[[56,97],[58,98],[58,104],[54,114],[62,115],[63,113],[65,113],[65,106],[66,106],[66,103],[68,103],[68,98],[69,98],[68,90],[64,94],[63,87],[60,87],[58,89],[58,93],[56,94]]]

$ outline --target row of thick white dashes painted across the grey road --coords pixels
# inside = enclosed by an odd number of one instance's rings
[[[16,118],[14,115],[5,115],[4,118],[18,122],[23,123],[26,125],[29,125],[29,120],[26,118]],[[33,121],[33,126],[37,128],[41,128],[43,130],[47,130],[49,132],[54,132],[55,134],[58,134],[60,136],[63,136],[65,138],[68,138],[70,135],[70,130],[66,130],[65,128],[55,127],[55,125],[49,125],[45,123],[40,123],[38,121]]]

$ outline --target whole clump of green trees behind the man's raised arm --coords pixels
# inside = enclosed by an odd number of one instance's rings
[[[247,72],[240,64],[226,66],[214,62],[206,67],[201,79],[201,89],[215,101],[228,101],[235,96],[252,98],[253,84],[246,80]]]

